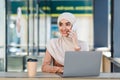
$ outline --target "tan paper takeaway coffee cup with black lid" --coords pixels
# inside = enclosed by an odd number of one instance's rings
[[[35,77],[37,73],[37,59],[29,58],[27,60],[28,77]]]

